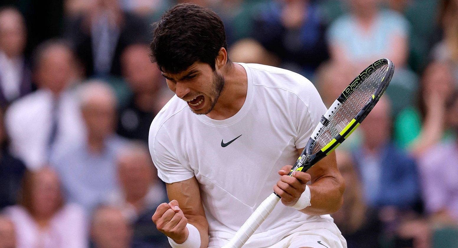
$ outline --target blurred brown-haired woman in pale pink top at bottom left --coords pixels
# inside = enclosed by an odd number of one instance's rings
[[[26,173],[20,205],[5,208],[17,227],[17,248],[87,247],[83,210],[64,203],[59,185],[52,169]]]

